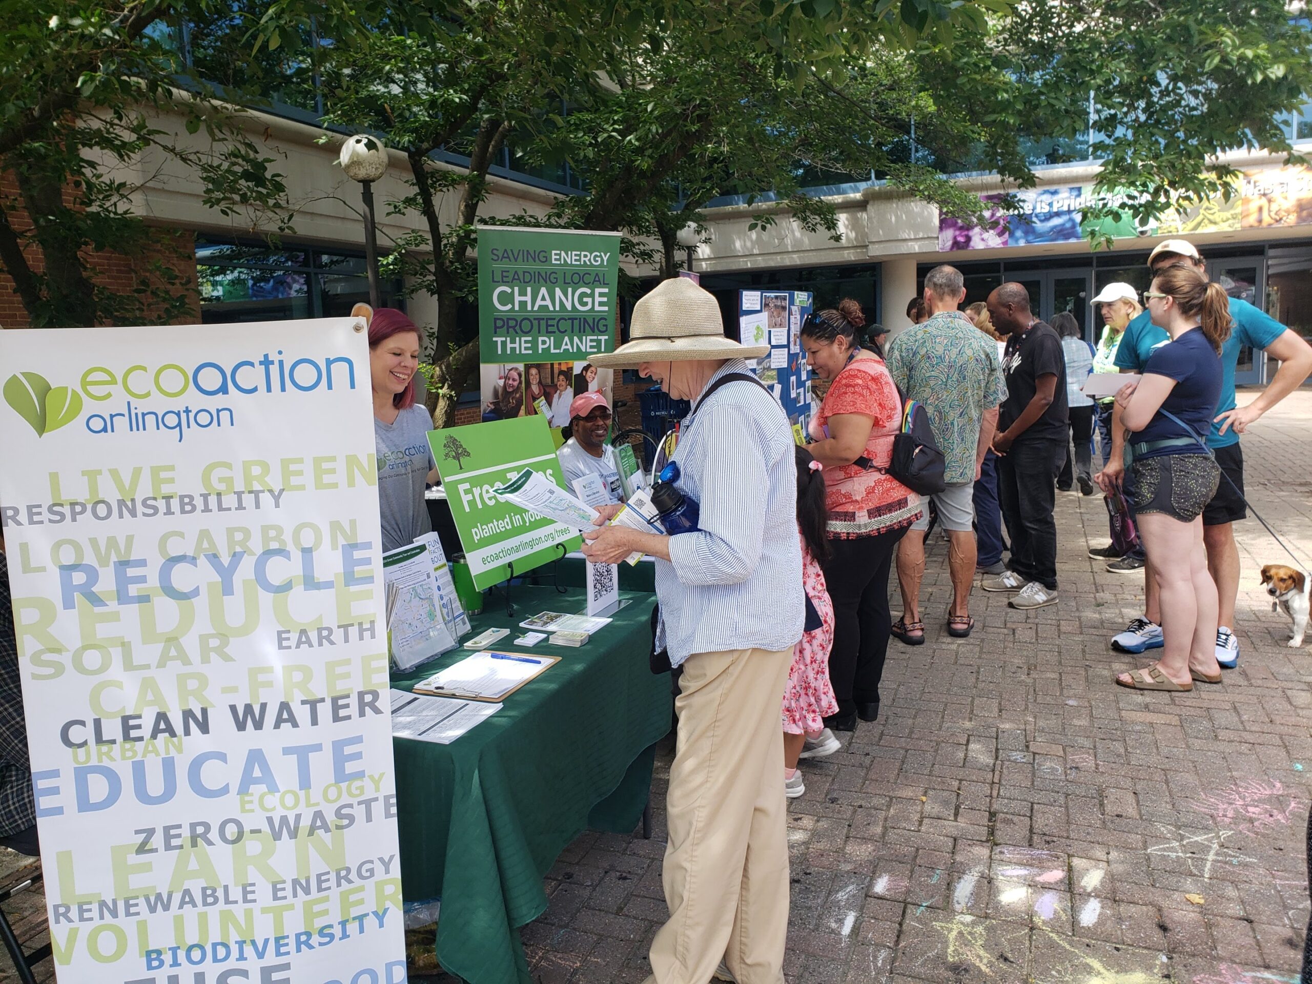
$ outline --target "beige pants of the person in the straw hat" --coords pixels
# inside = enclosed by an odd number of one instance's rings
[[[783,984],[787,800],[779,710],[792,649],[695,653],[684,664],[665,799],[669,922],[657,984],[707,984],[720,959],[741,984]]]

